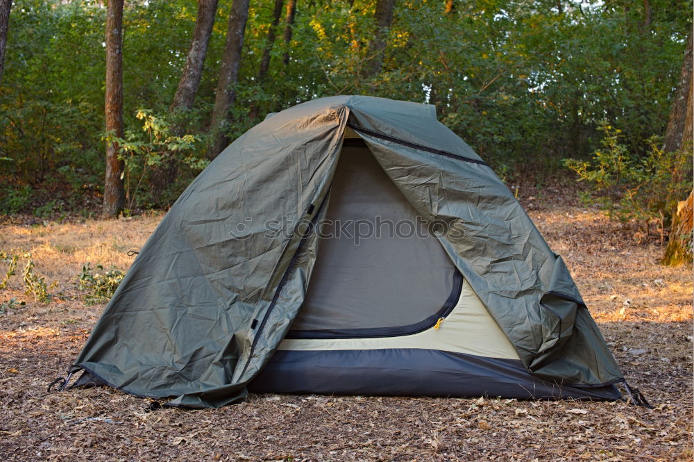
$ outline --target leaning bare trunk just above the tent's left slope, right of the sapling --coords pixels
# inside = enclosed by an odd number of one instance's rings
[[[226,131],[229,122],[229,109],[236,99],[234,85],[239,80],[241,51],[244,46],[244,33],[248,21],[248,1],[234,0],[229,15],[229,27],[226,31],[226,44],[219,68],[219,81],[214,96],[212,110],[212,145],[208,150],[208,158],[214,159],[226,147],[228,140]]]

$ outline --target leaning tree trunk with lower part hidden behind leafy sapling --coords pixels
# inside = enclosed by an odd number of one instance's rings
[[[203,64],[208,52],[214,15],[217,14],[218,0],[198,0],[198,15],[195,20],[193,40],[190,42],[188,55],[183,67],[183,74],[178,81],[178,88],[174,94],[174,100],[169,107],[169,114],[174,115],[174,135],[185,133],[185,126],[176,120],[176,113],[189,110],[193,107],[198,85],[203,76]],[[177,173],[176,158],[174,153],[167,152],[160,165],[155,165],[150,175],[150,191],[155,203],[159,203],[162,192],[167,185],[174,183]]]

